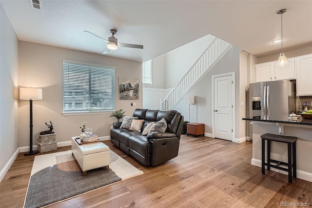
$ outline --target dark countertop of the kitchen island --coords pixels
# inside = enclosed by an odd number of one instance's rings
[[[300,117],[302,118],[302,117]],[[270,118],[264,119],[263,116],[260,118],[243,118],[246,121],[261,121],[261,122],[271,122],[271,123],[283,123],[283,124],[297,124],[297,125],[312,125],[312,119],[298,119],[298,121],[290,121],[288,116],[270,116]]]

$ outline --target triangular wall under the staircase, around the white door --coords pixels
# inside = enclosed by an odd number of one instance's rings
[[[225,74],[229,72],[235,73],[235,135],[234,138],[239,138],[239,53],[241,49],[233,46],[215,66],[198,82],[195,87],[186,95],[195,96],[195,104],[190,105],[182,101],[176,105],[175,110],[181,112],[185,117],[184,121],[198,122],[205,124],[205,133],[212,134],[212,76]]]

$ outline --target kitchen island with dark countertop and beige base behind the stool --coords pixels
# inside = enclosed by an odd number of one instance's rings
[[[297,137],[297,178],[312,182],[312,120],[289,121],[288,116],[243,118],[253,123],[253,158],[251,164],[261,167],[261,135],[265,133]],[[267,154],[266,154],[267,155]],[[267,158],[266,158],[267,159]],[[287,162],[287,144],[272,142],[271,159]],[[276,172],[287,172],[271,168]]]

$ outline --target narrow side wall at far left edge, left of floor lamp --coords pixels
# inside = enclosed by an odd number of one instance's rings
[[[4,167],[18,150],[19,41],[0,4],[0,180]],[[10,163],[12,163],[10,161]]]

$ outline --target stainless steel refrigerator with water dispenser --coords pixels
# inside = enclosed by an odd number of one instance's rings
[[[249,117],[269,120],[295,112],[295,81],[249,84]],[[252,132],[250,132],[252,140]]]

